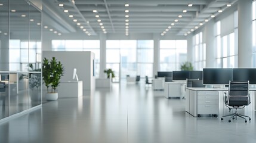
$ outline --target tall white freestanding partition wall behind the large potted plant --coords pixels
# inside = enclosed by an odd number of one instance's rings
[[[93,52],[66,52],[66,51],[43,51],[43,58],[55,57],[64,66],[64,76],[61,81],[72,81],[73,69],[77,69],[79,80],[83,81],[84,90],[95,89],[95,77],[93,74]]]

